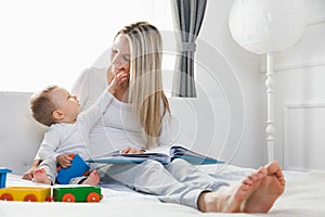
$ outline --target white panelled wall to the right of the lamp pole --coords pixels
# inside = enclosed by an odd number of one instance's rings
[[[298,170],[325,169],[325,1],[306,0],[306,7],[304,35],[274,56],[275,156]]]

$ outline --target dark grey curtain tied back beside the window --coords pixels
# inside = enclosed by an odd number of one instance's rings
[[[194,80],[194,52],[207,0],[171,0],[177,38],[176,72],[172,95],[196,98]]]

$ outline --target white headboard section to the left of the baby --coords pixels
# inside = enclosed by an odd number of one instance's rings
[[[30,92],[0,92],[0,167],[24,174],[47,129],[29,114]]]

